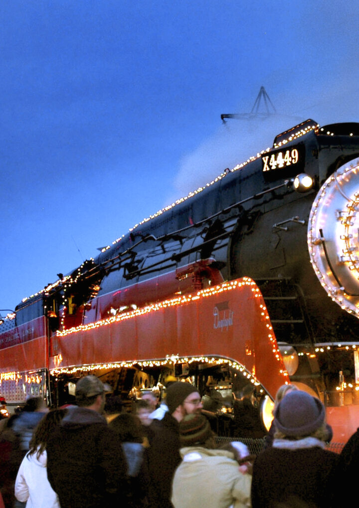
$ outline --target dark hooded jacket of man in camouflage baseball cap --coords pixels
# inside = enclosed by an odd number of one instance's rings
[[[69,409],[47,443],[47,474],[61,508],[126,506],[126,460],[98,412]]]

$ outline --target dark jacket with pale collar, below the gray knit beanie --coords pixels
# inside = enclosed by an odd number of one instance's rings
[[[339,456],[323,448],[324,443],[313,437],[274,439],[273,447],[260,453],[253,464],[253,508],[303,502],[331,506],[328,480]]]

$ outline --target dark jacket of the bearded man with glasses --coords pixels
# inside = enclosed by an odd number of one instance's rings
[[[181,462],[179,425],[167,412],[162,420],[154,420],[150,428],[154,436],[148,449],[149,502],[152,508],[172,507],[172,479]]]

